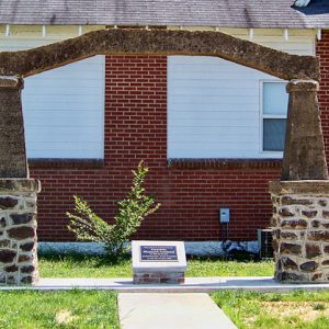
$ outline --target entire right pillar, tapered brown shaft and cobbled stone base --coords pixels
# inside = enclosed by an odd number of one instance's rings
[[[329,282],[329,181],[318,82],[293,80],[281,181],[270,182],[275,279]]]

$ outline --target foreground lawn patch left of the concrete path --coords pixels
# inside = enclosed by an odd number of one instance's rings
[[[120,328],[116,294],[0,292],[0,328]]]

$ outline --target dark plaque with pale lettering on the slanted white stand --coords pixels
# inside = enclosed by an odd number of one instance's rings
[[[141,262],[178,262],[177,246],[140,246]]]

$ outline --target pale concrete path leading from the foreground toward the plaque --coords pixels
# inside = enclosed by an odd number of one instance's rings
[[[207,294],[118,294],[122,329],[235,329]]]

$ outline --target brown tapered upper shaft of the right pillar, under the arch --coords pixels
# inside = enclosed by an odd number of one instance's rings
[[[313,80],[292,80],[290,93],[282,181],[327,180],[324,137],[317,91]]]

